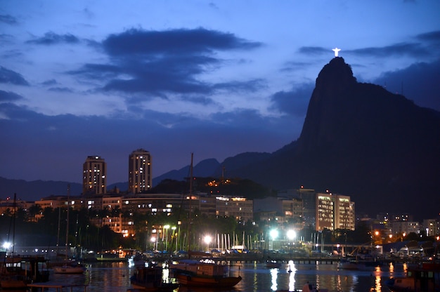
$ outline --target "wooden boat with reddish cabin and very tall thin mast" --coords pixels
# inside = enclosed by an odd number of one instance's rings
[[[190,195],[189,195],[189,218],[191,218],[191,197],[193,191],[193,153],[191,153],[190,164]],[[190,222],[188,222],[188,256],[190,252]],[[202,260],[181,260],[178,263],[169,265],[169,269],[174,271],[174,275],[183,286],[203,286],[216,288],[231,288],[241,281],[240,275],[232,277],[228,275],[228,265],[212,259]]]

